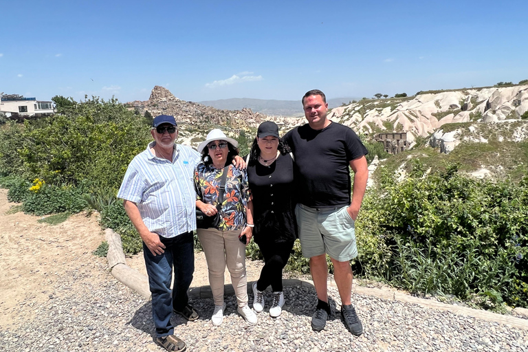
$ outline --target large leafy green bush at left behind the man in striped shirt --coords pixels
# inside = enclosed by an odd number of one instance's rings
[[[61,114],[2,129],[0,166],[47,184],[89,181],[94,188],[117,190],[126,166],[151,140],[146,120],[117,100],[57,98]]]

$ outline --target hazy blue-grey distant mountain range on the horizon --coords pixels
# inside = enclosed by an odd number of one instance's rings
[[[343,103],[349,103],[358,98],[334,98],[328,100],[328,107],[339,107]],[[251,98],[232,98],[221,100],[207,100],[199,104],[215,107],[222,110],[242,110],[249,108],[255,113],[264,115],[299,116],[303,115],[303,107],[300,100],[263,100]]]

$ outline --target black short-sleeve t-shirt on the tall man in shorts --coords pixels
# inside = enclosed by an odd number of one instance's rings
[[[299,203],[312,208],[350,204],[349,162],[368,153],[354,131],[337,122],[321,130],[304,124],[283,139],[295,156]]]

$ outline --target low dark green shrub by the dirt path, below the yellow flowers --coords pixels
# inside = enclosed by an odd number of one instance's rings
[[[45,184],[38,192],[30,192],[24,199],[23,209],[28,214],[47,215],[57,212],[80,212],[87,207],[83,195],[74,187]]]

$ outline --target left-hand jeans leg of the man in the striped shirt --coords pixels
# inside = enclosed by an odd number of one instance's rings
[[[164,239],[160,236],[160,239]],[[173,257],[170,251],[154,256],[143,243],[143,256],[145,259],[148,285],[152,294],[152,318],[156,328],[156,336],[173,335],[174,327],[170,324],[173,314],[172,294],[170,281],[172,281]]]

